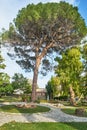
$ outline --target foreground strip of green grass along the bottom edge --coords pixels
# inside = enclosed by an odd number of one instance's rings
[[[4,124],[0,130],[87,130],[87,123],[16,123]]]

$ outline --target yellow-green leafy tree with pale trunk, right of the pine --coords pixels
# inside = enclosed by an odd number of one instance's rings
[[[75,103],[75,94],[79,95],[80,75],[83,70],[80,58],[81,53],[77,48],[68,49],[62,54],[62,58],[56,58],[58,62],[56,74],[60,77],[65,92],[70,91],[72,105]]]

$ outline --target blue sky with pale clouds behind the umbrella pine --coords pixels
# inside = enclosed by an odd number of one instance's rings
[[[13,21],[16,17],[18,10],[22,7],[25,7],[27,4],[30,3],[46,3],[46,2],[59,2],[60,0],[0,0],[0,30],[4,27],[8,29],[9,23]],[[64,1],[64,0],[62,0]],[[74,6],[78,6],[79,12],[81,16],[84,18],[86,25],[87,25],[87,0],[65,0]],[[6,49],[2,49],[2,55],[5,58],[5,63],[7,65],[5,71],[10,75],[13,76],[15,72],[20,72],[26,75],[29,78],[32,78],[32,74],[25,74],[24,71],[15,64],[7,55]],[[50,79],[53,73],[48,74],[46,77],[39,76],[38,84],[40,87],[44,87],[47,81]],[[43,84],[44,83],[44,84]]]

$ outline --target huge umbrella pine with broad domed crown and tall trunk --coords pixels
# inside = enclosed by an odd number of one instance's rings
[[[87,28],[78,8],[65,2],[29,4],[10,24],[3,39],[13,43],[19,56],[17,63],[26,71],[33,69],[32,101],[36,97],[39,66],[43,73],[52,67],[53,52],[80,43]],[[51,57],[51,58],[49,58]]]

